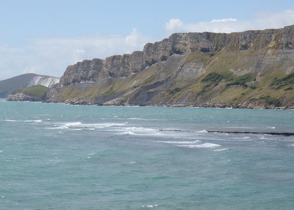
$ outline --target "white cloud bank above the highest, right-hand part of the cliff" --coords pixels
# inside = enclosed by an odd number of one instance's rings
[[[166,34],[176,32],[215,32],[231,33],[246,30],[263,30],[283,28],[294,24],[294,11],[286,10],[278,13],[260,13],[251,19],[238,20],[235,18],[213,19],[197,23],[184,23],[180,19],[171,19],[165,24]]]

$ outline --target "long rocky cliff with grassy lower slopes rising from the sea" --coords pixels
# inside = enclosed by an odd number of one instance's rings
[[[293,29],[172,34],[143,51],[68,66],[46,102],[293,106]]]

